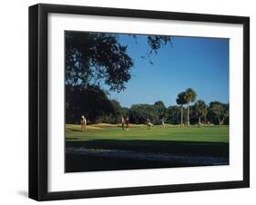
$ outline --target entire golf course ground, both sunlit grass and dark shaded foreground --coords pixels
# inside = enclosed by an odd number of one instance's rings
[[[229,126],[66,125],[66,172],[229,164]]]

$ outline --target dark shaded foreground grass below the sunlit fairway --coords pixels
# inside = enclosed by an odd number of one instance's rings
[[[164,160],[161,160],[161,156],[163,156]],[[66,142],[67,172],[228,164],[229,143],[226,142],[156,140],[90,140]]]

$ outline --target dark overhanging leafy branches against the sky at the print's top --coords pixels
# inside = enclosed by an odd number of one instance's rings
[[[118,42],[118,34],[67,31],[66,84],[104,83],[120,92],[131,78],[134,63],[127,54],[128,45]],[[132,35],[136,37],[136,35]],[[149,54],[171,41],[170,36],[147,35]]]

